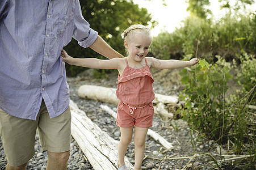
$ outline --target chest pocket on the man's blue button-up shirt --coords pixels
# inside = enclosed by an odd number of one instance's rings
[[[69,30],[70,23],[72,22],[72,16],[66,14],[58,14],[58,31],[57,37],[63,37],[64,33]]]

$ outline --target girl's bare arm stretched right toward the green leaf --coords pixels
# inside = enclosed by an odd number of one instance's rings
[[[195,65],[199,62],[198,58],[192,58],[190,61],[182,61],[176,59],[162,60],[153,57],[147,57],[150,61],[150,67],[155,69],[179,69],[182,67],[188,67]]]

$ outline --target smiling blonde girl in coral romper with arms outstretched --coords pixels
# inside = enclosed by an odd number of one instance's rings
[[[195,65],[199,59],[179,61],[161,60],[146,57],[152,42],[150,30],[144,25],[132,25],[121,35],[128,57],[112,59],[73,58],[62,50],[63,61],[70,65],[95,69],[117,69],[119,71],[116,96],[120,100],[117,106],[116,125],[120,127],[121,138],[118,145],[119,169],[127,169],[124,155],[132,141],[134,126],[135,169],[141,169],[144,156],[145,138],[148,128],[152,126],[154,108],[154,82],[150,68],[177,69]]]

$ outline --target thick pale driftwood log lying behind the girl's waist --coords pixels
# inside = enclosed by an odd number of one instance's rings
[[[119,100],[116,97],[116,88],[83,85],[78,89],[78,96],[83,99],[102,101],[117,105]],[[178,96],[166,96],[155,94],[156,99],[153,100],[155,113],[161,116],[173,118],[173,113],[166,110],[166,104],[171,110],[177,107]]]

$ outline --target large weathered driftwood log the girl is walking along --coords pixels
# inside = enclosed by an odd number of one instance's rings
[[[118,169],[118,141],[94,124],[72,100],[70,100],[70,110],[72,113],[72,136],[93,168],[96,170]],[[126,157],[125,164],[128,169],[133,169],[133,165]]]

